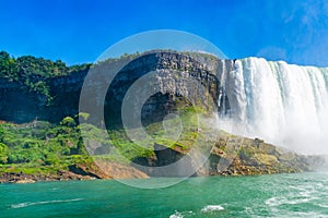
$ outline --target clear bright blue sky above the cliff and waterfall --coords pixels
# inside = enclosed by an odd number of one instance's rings
[[[153,29],[196,34],[232,59],[328,66],[324,0],[0,0],[0,50],[14,57],[93,62],[122,38]]]

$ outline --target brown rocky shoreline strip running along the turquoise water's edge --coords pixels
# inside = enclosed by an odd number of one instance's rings
[[[238,147],[238,153],[234,159],[229,162],[224,170],[218,166],[220,160],[227,161],[229,154],[225,149],[229,141],[236,142],[237,136],[230,135],[230,140],[219,140],[212,147],[211,155],[203,167],[197,169],[192,177],[208,175],[255,175],[272,173],[296,173],[303,171],[313,171],[316,166],[323,165],[326,160],[320,156],[302,156],[292,152],[283,150],[277,146],[270,145],[258,138],[243,138],[243,145]],[[155,145],[160,146],[160,145]],[[167,155],[169,154],[169,155]],[[119,164],[114,161],[97,161],[92,165],[77,164],[70,166],[68,170],[59,170],[52,174],[26,174],[23,172],[2,172],[0,173],[0,183],[34,183],[39,181],[82,181],[95,179],[147,179],[150,177],[184,177],[181,171],[149,171],[144,167],[161,167],[169,165],[185,156],[178,149],[167,148],[156,152],[156,157],[152,160],[138,159],[136,162]],[[188,154],[187,154],[188,155]],[[188,158],[187,158],[188,159]],[[149,162],[152,162],[151,166]],[[192,161],[187,160],[185,166],[191,167]]]

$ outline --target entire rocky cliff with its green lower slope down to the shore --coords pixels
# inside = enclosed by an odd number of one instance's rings
[[[46,84],[49,95],[20,82],[0,78],[0,120],[27,123],[0,125],[0,161],[3,162],[0,167],[3,181],[8,182],[13,177],[17,180],[59,180],[258,174],[312,170],[311,166],[314,166],[314,162],[318,164],[314,161],[316,157],[298,156],[258,138],[243,138],[229,133],[214,135],[215,140],[211,142],[203,138],[200,147],[207,147],[208,158],[204,165],[199,167],[198,160],[202,160],[201,153],[199,155],[189,150],[195,141],[207,132],[201,130],[195,120],[190,121],[187,114],[181,117],[181,120],[186,121],[186,130],[179,135],[179,141],[162,138],[162,121],[168,113],[180,109],[195,106],[203,113],[218,112],[219,117],[236,112],[232,110],[232,106],[238,101],[234,98],[238,95],[231,95],[229,98],[225,93],[227,89],[229,93],[236,92],[233,86],[236,84],[231,81],[234,80],[235,68],[235,61],[219,60],[210,55],[155,51],[143,53],[136,59],[122,57],[99,62],[89,72],[84,70],[66,76],[48,77]],[[116,72],[118,73],[114,76]],[[90,77],[90,73],[93,76]],[[139,83],[140,81],[142,83]],[[132,89],[138,83],[137,88]],[[147,93],[150,89],[152,92]],[[87,93],[86,98],[82,99],[82,107],[79,106],[81,90]],[[128,107],[132,108],[128,118],[141,118],[142,128],[156,137],[151,147],[144,149],[122,133],[125,130],[121,108],[126,96],[130,102]],[[140,104],[142,108],[139,114]],[[94,114],[95,110],[104,111],[107,131],[114,135],[110,143],[102,141],[103,133],[98,128],[104,124],[101,123],[103,118]],[[56,124],[66,117],[74,117],[79,111],[90,113],[89,120],[93,125],[86,125],[87,133],[92,136],[94,148],[97,148],[93,154],[101,156],[103,169],[98,169],[99,165],[95,166],[94,162],[81,164],[83,159],[89,158],[86,152],[83,153],[81,148],[84,140],[80,135],[82,125],[77,124],[73,119],[67,119],[66,122],[60,122],[60,125]],[[52,124],[28,123],[36,120],[49,121]],[[173,118],[172,123],[174,120]],[[212,134],[216,133],[208,133]],[[98,144],[101,146],[97,146]],[[105,152],[98,154],[98,150]],[[125,159],[117,157],[117,154]],[[179,161],[180,159],[184,160]],[[32,171],[31,162],[36,162]],[[161,168],[174,162],[178,162],[175,168]],[[12,164],[22,167],[12,168]],[[43,173],[35,175],[34,172],[39,173],[39,170]]]

